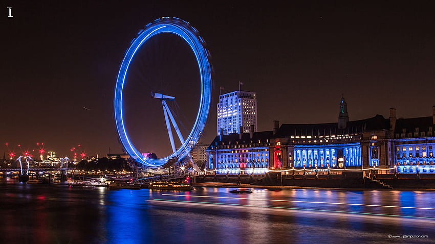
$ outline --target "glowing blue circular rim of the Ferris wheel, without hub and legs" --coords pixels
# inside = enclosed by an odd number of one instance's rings
[[[122,106],[122,93],[125,86],[125,79],[128,73],[128,68],[132,62],[136,52],[151,37],[162,34],[171,33],[181,37],[191,48],[195,59],[197,60],[200,78],[201,78],[201,99],[197,117],[193,124],[192,130],[187,136],[184,143],[169,156],[164,158],[152,159],[143,156],[133,145],[128,137]],[[193,28],[188,22],[175,17],[164,17],[156,19],[146,25],[145,29],[139,31],[138,36],[133,39],[130,47],[125,52],[124,59],[122,60],[119,69],[118,78],[115,86],[114,109],[115,109],[115,122],[119,138],[125,151],[128,155],[135,159],[137,162],[147,167],[159,167],[165,164],[169,159],[179,158],[182,159],[189,154],[193,145],[195,145],[204,129],[208,112],[210,110],[211,102],[211,64],[210,55],[205,47],[203,38],[199,35],[198,31]]]

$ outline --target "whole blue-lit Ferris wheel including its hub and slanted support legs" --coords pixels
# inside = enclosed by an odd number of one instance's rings
[[[191,129],[187,130],[188,135],[186,137],[181,133],[180,127],[177,123],[177,116],[174,116],[173,110],[170,109],[169,103],[177,100],[173,94],[167,94],[164,90],[154,91],[150,90],[144,96],[151,96],[154,99],[161,101],[161,108],[163,108],[163,116],[166,124],[166,130],[168,133],[170,148],[172,153],[160,158],[149,158],[144,156],[130,139],[134,131],[130,131],[126,128],[125,122],[125,92],[124,88],[127,84],[127,77],[137,57],[137,53],[144,43],[150,41],[151,38],[162,34],[175,35],[181,38],[189,46],[191,52],[194,55],[195,63],[199,70],[200,80],[200,94],[199,94],[199,106],[198,111],[195,113],[194,121]],[[210,54],[206,48],[204,39],[199,35],[199,32],[192,27],[188,22],[176,17],[163,17],[154,20],[146,25],[145,29],[139,31],[137,37],[133,39],[127,51],[124,54],[124,58],[121,62],[119,69],[117,82],[115,86],[114,96],[114,114],[116,129],[119,135],[119,139],[125,149],[125,151],[136,160],[147,167],[159,167],[167,163],[170,159],[182,159],[189,155],[193,145],[195,145],[204,129],[211,102],[211,64]],[[153,118],[148,118],[153,119]],[[163,119],[162,119],[163,120]],[[147,121],[144,121],[146,124]],[[171,127],[172,126],[172,127]],[[172,130],[173,128],[173,130]],[[173,138],[173,131],[178,136],[178,145]],[[164,131],[162,131],[164,133]],[[146,140],[147,138],[144,138]]]

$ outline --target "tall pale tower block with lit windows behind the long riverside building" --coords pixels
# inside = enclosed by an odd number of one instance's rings
[[[217,135],[251,132],[257,128],[257,98],[255,92],[232,91],[219,96],[217,104]]]

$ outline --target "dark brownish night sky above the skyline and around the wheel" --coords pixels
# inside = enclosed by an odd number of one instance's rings
[[[17,144],[33,150],[38,142],[60,156],[71,157],[77,144],[88,155],[121,152],[112,105],[118,68],[136,33],[162,16],[189,21],[210,50],[214,90],[204,142],[216,133],[219,87],[230,92],[238,81],[257,92],[259,130],[271,130],[274,119],[337,121],[341,93],[351,120],[388,117],[391,106],[399,117],[430,116],[433,1],[352,2],[6,0],[0,141],[18,153]],[[144,47],[131,73],[128,130],[137,148],[163,156],[169,150],[163,112],[149,89],[178,93],[188,127],[186,110],[196,109],[199,88],[183,43],[159,38]]]

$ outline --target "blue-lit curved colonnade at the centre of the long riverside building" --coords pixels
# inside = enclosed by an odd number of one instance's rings
[[[361,144],[295,145],[294,167],[361,166]],[[341,161],[342,160],[342,161]],[[343,165],[340,165],[340,163]]]

